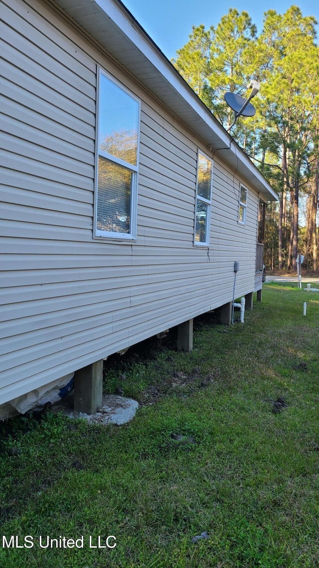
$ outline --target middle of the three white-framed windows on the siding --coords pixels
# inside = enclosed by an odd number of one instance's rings
[[[213,162],[198,151],[194,245],[208,245],[211,228]]]

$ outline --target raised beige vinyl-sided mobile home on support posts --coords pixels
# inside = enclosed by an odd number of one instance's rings
[[[260,298],[276,194],[119,0],[1,17],[0,404],[76,371],[96,406],[110,354],[175,325],[191,348],[235,275]]]

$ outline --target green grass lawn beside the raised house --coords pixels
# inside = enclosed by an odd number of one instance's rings
[[[270,283],[245,324],[196,320],[192,353],[168,339],[110,362],[106,390],[141,403],[131,423],[12,420],[0,536],[33,547],[0,542],[0,566],[319,566],[318,342],[319,293]],[[39,535],[83,548],[40,548]],[[89,548],[108,535],[114,549]]]

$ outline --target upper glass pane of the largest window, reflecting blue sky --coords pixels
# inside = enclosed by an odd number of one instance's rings
[[[99,149],[137,164],[138,103],[100,75]]]

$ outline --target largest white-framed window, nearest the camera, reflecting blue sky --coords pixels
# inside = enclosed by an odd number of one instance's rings
[[[136,239],[140,101],[99,69],[94,236]]]

